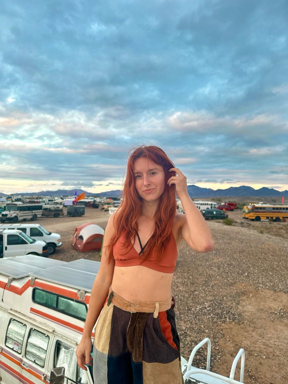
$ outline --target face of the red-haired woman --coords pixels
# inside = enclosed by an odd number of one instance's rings
[[[139,196],[146,201],[159,200],[165,190],[163,167],[147,157],[139,157],[134,161],[133,170]]]

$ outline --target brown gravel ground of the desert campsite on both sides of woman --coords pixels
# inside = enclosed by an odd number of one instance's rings
[[[172,291],[176,300],[181,353],[186,359],[205,337],[212,342],[211,370],[229,376],[234,357],[245,349],[246,384],[288,382],[288,223],[247,222],[229,212],[232,226],[210,221],[215,248],[197,253],[185,243],[179,252]],[[105,228],[109,214],[86,208],[83,217],[41,218],[37,222],[61,234],[63,245],[50,257],[65,261],[98,260],[71,245],[76,225]],[[193,365],[205,368],[206,347]],[[240,366],[240,363],[238,363]],[[239,369],[235,379],[239,379]]]

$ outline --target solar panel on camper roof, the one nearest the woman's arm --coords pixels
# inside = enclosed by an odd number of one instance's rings
[[[70,286],[71,288],[90,292],[96,274],[76,270],[69,267],[67,268],[66,265],[60,265],[51,268],[46,268],[44,270],[38,270],[35,273],[31,274],[31,276],[50,281],[52,283],[66,285]]]

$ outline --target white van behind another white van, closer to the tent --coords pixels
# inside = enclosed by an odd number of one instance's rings
[[[40,224],[0,224],[0,229],[18,229],[35,240],[44,240],[48,246],[48,252],[53,255],[56,247],[60,247],[61,236],[59,233],[49,232]]]

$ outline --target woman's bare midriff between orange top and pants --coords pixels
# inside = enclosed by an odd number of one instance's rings
[[[142,265],[115,266],[111,289],[127,301],[165,301],[171,297],[173,273]]]

